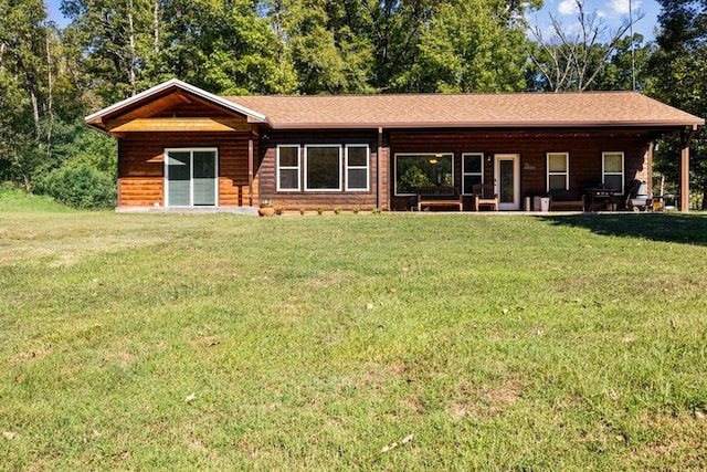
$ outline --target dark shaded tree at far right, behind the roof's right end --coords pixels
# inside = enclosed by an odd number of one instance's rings
[[[697,116],[707,116],[707,0],[658,0],[657,50],[650,61],[647,93]],[[655,169],[679,181],[682,139],[658,146]],[[690,185],[703,193],[707,209],[707,133],[700,127],[692,144]]]

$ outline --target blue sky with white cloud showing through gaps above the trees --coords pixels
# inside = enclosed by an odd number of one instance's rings
[[[49,10],[50,19],[63,28],[67,21],[62,17],[59,7],[61,0],[44,0]],[[584,0],[584,8],[588,13],[597,11],[610,30],[615,31],[623,19],[629,17],[629,1],[634,12],[643,12],[645,17],[634,25],[634,32],[643,34],[646,41],[653,40],[655,34],[653,29],[657,24],[659,7],[655,0]],[[545,0],[542,10],[530,14],[530,24],[538,24],[541,29],[549,24],[549,14],[555,15],[563,27],[570,29],[577,23],[576,0]]]

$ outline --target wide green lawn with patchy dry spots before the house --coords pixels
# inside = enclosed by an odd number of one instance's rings
[[[706,229],[0,200],[0,469],[700,470]]]

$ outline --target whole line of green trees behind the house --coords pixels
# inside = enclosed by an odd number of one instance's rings
[[[82,117],[171,77],[219,95],[636,88],[707,114],[707,0],[659,0],[654,43],[629,34],[641,17],[609,31],[574,1],[580,28],[551,17],[548,34],[527,21],[542,0],[63,0],[65,28],[0,0],[0,181],[113,206],[115,141]],[[673,181],[678,145],[656,157]]]

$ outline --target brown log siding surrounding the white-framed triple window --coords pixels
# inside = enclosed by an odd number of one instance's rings
[[[300,154],[300,191],[277,191],[277,176],[275,175],[275,159],[277,145],[298,145],[304,153],[305,145],[345,145],[365,144],[369,147],[369,190],[368,191],[305,191],[304,190],[304,159]],[[342,155],[344,156],[344,155]],[[268,132],[261,139],[261,155],[257,176],[260,177],[261,198],[271,200],[273,204],[285,210],[315,210],[319,207],[326,210],[341,208],[345,210],[370,210],[383,207],[377,201],[376,186],[378,185],[378,132],[342,130],[342,132]],[[341,175],[345,172],[345,159],[341,159]],[[387,174],[386,161],[382,161],[381,177]],[[381,183],[384,183],[381,181]],[[344,187],[344,183],[342,183]],[[383,187],[381,197],[384,198],[387,188]]]

